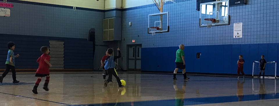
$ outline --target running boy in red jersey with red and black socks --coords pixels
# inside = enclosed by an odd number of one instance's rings
[[[49,53],[49,48],[47,46],[42,46],[41,47],[41,52],[44,53],[41,55],[40,58],[38,58],[37,62],[39,63],[39,68],[36,71],[36,77],[38,77],[35,86],[33,88],[33,93],[38,94],[37,92],[37,87],[39,86],[42,77],[47,76],[45,82],[44,82],[44,87],[43,89],[46,91],[49,91],[49,88],[47,87],[49,84],[49,67],[52,67],[52,65],[49,63],[50,56],[48,55]]]

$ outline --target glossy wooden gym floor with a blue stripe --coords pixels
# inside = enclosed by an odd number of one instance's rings
[[[119,72],[126,81],[118,89],[113,83],[103,86],[98,71],[51,72],[49,91],[35,85],[35,72],[17,72],[18,84],[9,73],[0,84],[1,106],[278,106],[276,79],[204,76],[189,74],[188,81],[178,73]],[[15,102],[16,101],[16,102]]]

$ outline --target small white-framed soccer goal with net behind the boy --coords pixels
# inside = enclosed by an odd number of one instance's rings
[[[272,78],[272,79],[276,78],[276,63],[277,63],[276,61],[273,61],[273,62],[267,62],[265,64],[264,78]],[[259,76],[259,74],[260,74],[259,66],[260,66],[260,62],[258,62],[258,61],[253,62],[253,73],[252,73],[253,78],[257,78]],[[260,78],[263,78],[262,75]]]

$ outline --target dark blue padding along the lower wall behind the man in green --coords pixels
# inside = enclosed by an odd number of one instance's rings
[[[252,75],[253,62],[259,61],[261,55],[265,55],[267,62],[278,61],[278,47],[278,43],[185,46],[186,72],[237,74],[237,60],[239,55],[243,55],[244,73]],[[178,47],[142,48],[142,71],[173,72],[177,49]],[[196,53],[199,52],[200,59],[196,59]],[[169,56],[162,56],[166,54]],[[157,61],[157,64],[150,60]],[[158,69],[157,66],[164,67]]]

